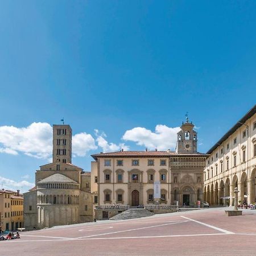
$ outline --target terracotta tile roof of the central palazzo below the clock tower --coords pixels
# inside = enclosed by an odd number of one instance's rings
[[[117,152],[108,152],[108,153],[100,153],[94,154],[92,157],[97,160],[97,158],[104,157],[169,157],[169,156],[204,156],[203,153],[195,153],[195,154],[177,154],[175,151],[117,151]]]

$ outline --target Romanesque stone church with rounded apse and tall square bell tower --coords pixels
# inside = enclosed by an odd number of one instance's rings
[[[24,193],[24,226],[49,228],[93,220],[90,172],[72,164],[72,129],[53,125],[53,162],[36,171],[36,187]]]

